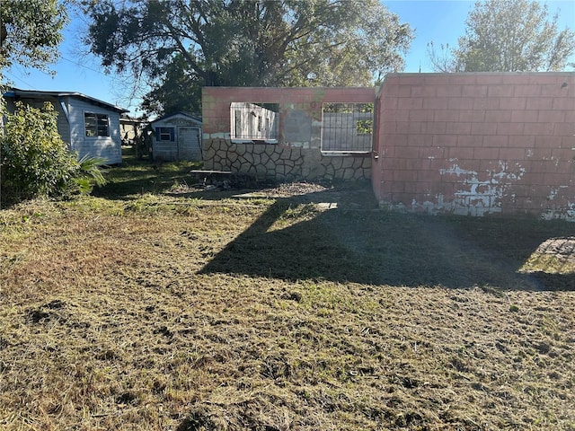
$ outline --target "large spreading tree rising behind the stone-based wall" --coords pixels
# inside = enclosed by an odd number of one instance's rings
[[[154,110],[174,94],[199,106],[205,85],[373,84],[403,68],[413,38],[378,0],[116,3],[84,2],[85,41],[102,66],[151,84]]]

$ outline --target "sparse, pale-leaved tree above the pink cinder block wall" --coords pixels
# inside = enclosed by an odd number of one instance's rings
[[[434,68],[443,72],[561,71],[575,53],[575,32],[559,31],[558,15],[533,0],[477,1],[456,48],[429,43]]]

